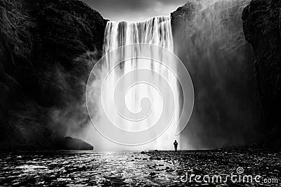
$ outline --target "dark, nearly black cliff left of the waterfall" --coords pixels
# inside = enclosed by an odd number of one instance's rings
[[[106,20],[77,0],[0,0],[0,25],[0,144],[51,146],[50,113],[83,102]]]

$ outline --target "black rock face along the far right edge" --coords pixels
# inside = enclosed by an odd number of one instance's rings
[[[253,0],[243,11],[244,35],[254,50],[254,69],[267,138],[281,145],[281,1]]]

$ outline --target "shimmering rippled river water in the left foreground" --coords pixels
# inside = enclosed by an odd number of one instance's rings
[[[176,164],[136,152],[1,153],[0,186],[156,185],[179,182]],[[151,173],[157,169],[157,178]]]

